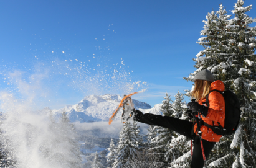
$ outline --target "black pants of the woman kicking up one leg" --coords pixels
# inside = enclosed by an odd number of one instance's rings
[[[191,130],[193,125],[192,122],[163,115],[153,115],[150,113],[143,114],[139,110],[136,110],[134,120],[149,125],[157,125],[162,126],[164,128],[169,128],[170,130],[176,131],[179,134],[186,136],[187,138],[193,139],[194,150],[191,167],[201,168],[204,166],[204,159],[202,157],[202,148],[199,136],[197,136],[196,134],[194,134],[194,136],[191,136]],[[204,154],[206,158],[208,158],[212,148],[214,148],[214,145],[216,143],[202,139],[202,144],[204,147]]]

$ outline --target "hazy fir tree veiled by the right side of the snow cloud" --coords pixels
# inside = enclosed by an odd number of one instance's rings
[[[62,112],[59,122],[55,122],[52,115],[50,117],[49,136],[45,139],[40,151],[42,155],[52,164],[62,167],[81,167],[80,146],[75,138],[74,125],[69,122],[67,113]]]

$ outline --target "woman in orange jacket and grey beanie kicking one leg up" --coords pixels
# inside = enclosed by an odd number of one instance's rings
[[[202,70],[194,76],[195,87],[191,92],[192,99],[196,99],[196,102],[189,102],[189,110],[192,112],[192,115],[198,115],[200,118],[209,125],[218,126],[218,122],[222,127],[224,127],[225,120],[225,102],[224,97],[219,92],[211,92],[211,90],[224,91],[225,87],[222,81],[214,81],[213,74],[208,70]],[[206,107],[206,95],[209,94],[209,107]],[[135,120],[141,123],[146,123],[149,125],[162,126],[164,128],[169,128],[173,131],[178,132],[181,135],[184,135],[188,138],[194,140],[194,150],[192,155],[191,167],[203,167],[204,160],[202,156],[202,149],[200,139],[197,133],[197,123],[192,123],[187,120],[180,120],[174,117],[162,116],[162,115],[153,115],[150,113],[143,114],[139,110],[135,110],[133,104],[124,104],[123,119],[127,121]],[[200,130],[202,131],[202,144],[204,148],[204,154],[209,157],[209,154],[214,148],[216,142],[219,142],[221,135],[217,135],[210,128],[202,125],[202,121],[199,125]],[[191,133],[191,130],[194,130],[194,133]],[[192,135],[193,134],[193,135]]]

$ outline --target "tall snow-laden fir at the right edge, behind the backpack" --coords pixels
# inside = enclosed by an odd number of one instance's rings
[[[255,69],[255,46],[256,29],[250,28],[249,24],[256,19],[248,17],[245,12],[252,9],[252,5],[244,7],[244,1],[239,0],[232,11],[235,14],[227,25],[230,34],[229,48],[232,58],[227,69],[225,81],[226,86],[237,94],[242,110],[240,129],[232,138],[229,153],[234,152],[239,156],[240,163],[245,167],[254,167],[256,164],[256,69]],[[227,141],[227,137],[223,138]],[[230,148],[227,148],[230,149]],[[226,154],[227,155],[227,154]],[[237,159],[236,159],[237,160]],[[238,160],[237,160],[238,162]],[[233,164],[240,167],[240,164]]]

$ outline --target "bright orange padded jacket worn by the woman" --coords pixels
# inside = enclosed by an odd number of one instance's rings
[[[219,90],[224,91],[225,86],[222,81],[214,81],[211,84],[211,90]],[[212,121],[214,121],[214,125],[218,126],[218,123],[222,127],[224,127],[224,120],[225,120],[225,101],[224,97],[219,92],[211,92],[209,94],[209,104],[210,107],[208,109],[208,113],[206,117],[201,115],[202,120],[209,125],[212,125]],[[202,105],[203,102],[206,102],[206,99],[200,99],[198,101],[199,104]],[[204,104],[206,105],[206,104]],[[202,131],[202,139],[210,142],[219,142],[221,135],[217,135],[212,131],[211,128],[207,128],[206,126],[202,125],[200,130]],[[197,124],[194,126],[194,133],[197,133]]]

